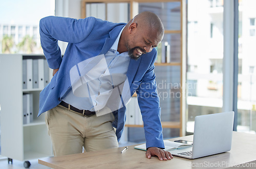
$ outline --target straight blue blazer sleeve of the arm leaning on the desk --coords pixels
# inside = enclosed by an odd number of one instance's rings
[[[142,82],[136,92],[144,124],[146,148],[158,147],[163,149],[164,143],[160,118],[161,107],[154,72],[156,57],[157,51],[154,54],[151,66],[143,75]]]

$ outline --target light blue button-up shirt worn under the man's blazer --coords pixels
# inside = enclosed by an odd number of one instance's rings
[[[120,54],[117,51],[122,31],[105,55],[90,58],[71,69],[72,90],[63,101],[78,109],[97,111],[104,108],[113,87],[125,81],[130,63],[128,52]],[[80,79],[72,79],[72,71],[78,71]]]

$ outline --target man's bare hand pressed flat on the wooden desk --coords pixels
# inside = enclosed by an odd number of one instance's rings
[[[150,147],[147,149],[146,157],[150,159],[151,156],[158,156],[159,160],[170,160],[174,158],[170,152],[164,151],[163,149],[159,149],[157,147]]]

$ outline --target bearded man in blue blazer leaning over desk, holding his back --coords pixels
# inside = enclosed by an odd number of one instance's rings
[[[154,47],[163,35],[161,20],[151,12],[127,24],[94,17],[40,20],[41,46],[54,76],[40,93],[38,116],[47,111],[55,156],[81,153],[82,146],[86,151],[118,147],[125,104],[137,92],[146,157],[173,158],[163,150],[154,73]],[[63,58],[57,40],[69,42]]]

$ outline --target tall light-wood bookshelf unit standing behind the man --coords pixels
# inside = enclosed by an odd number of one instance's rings
[[[126,4],[130,6],[127,15],[129,19],[133,18],[140,12],[151,11],[156,13],[162,20],[165,28],[164,38],[162,44],[159,44],[157,48],[158,57],[161,57],[163,51],[165,51],[165,57],[167,53],[168,60],[163,63],[161,59],[157,59],[155,63],[155,73],[157,83],[163,79],[166,83],[178,83],[177,89],[165,89],[173,92],[174,95],[179,93],[179,97],[169,98],[168,101],[161,101],[162,107],[161,122],[163,128],[179,129],[179,136],[185,135],[185,68],[186,68],[186,1],[185,0],[83,0],[81,2],[81,18],[90,16],[101,16],[101,19],[109,20],[108,11],[109,4]],[[90,7],[89,7],[90,6]],[[95,12],[88,12],[96,9],[100,6],[100,11],[105,14],[98,15]],[[93,10],[95,11],[95,10]],[[119,15],[124,16],[125,11],[116,10]],[[102,18],[103,17],[103,18]],[[129,20],[127,19],[127,20]],[[163,46],[168,46],[167,52],[163,49]],[[167,62],[166,62],[167,61]],[[166,73],[167,72],[167,73]],[[173,73],[172,73],[173,72]],[[165,76],[163,75],[165,74]],[[164,89],[160,89],[160,92],[164,92]],[[159,92],[158,91],[158,92]],[[134,95],[133,97],[136,97]],[[162,102],[162,105],[161,105]],[[127,105],[131,106],[131,105]],[[137,106],[137,105],[136,105]],[[167,120],[166,120],[167,119]],[[125,124],[126,127],[143,127],[143,125],[137,124]]]

